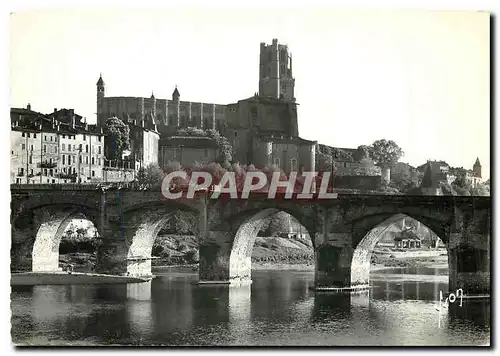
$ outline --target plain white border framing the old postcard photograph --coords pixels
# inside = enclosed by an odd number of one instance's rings
[[[335,0],[308,0],[308,1],[295,1],[295,2],[290,2],[290,1],[273,1],[273,0],[252,0],[252,1],[247,1],[245,3],[242,2],[236,2],[236,1],[222,1],[222,0],[211,0],[211,1],[206,1],[206,0],[176,0],[176,1],[155,1],[155,0],[142,0],[142,1],[137,1],[137,2],[132,2],[132,1],[127,1],[127,0],[122,0],[122,1],[104,1],[104,0],[86,0],[86,1],[64,1],[64,0],[44,0],[44,1],[36,1],[36,0],[18,0],[18,1],[13,1],[13,0],[4,0],[0,3],[0,8],[3,10],[1,11],[1,19],[2,19],[2,36],[1,41],[2,41],[2,48],[4,50],[4,55],[1,57],[2,59],[2,67],[3,71],[1,71],[2,75],[4,76],[3,78],[3,90],[4,90],[4,95],[1,96],[2,99],[2,107],[4,108],[4,117],[1,120],[2,122],[2,130],[0,130],[1,134],[3,135],[3,139],[0,140],[2,145],[8,146],[10,136],[9,136],[9,130],[10,130],[10,119],[9,119],[9,109],[10,109],[10,93],[9,93],[9,88],[8,88],[8,23],[9,23],[9,13],[11,12],[17,12],[17,11],[22,11],[22,10],[27,10],[27,9],[41,9],[41,8],[99,8],[99,7],[107,7],[107,8],[159,8],[159,7],[169,7],[169,8],[177,8],[177,7],[182,7],[182,8],[224,8],[224,7],[231,7],[231,8],[282,8],[282,7],[287,7],[287,8],[311,8],[311,7],[335,7],[335,8],[404,8],[404,9],[434,9],[434,10],[485,10],[489,12],[496,13],[499,8],[500,1],[498,0],[407,0],[407,1],[401,1],[401,0],[384,0],[384,1],[377,1],[376,3],[373,0],[351,0],[351,1],[335,1]],[[498,27],[498,24],[496,25]],[[497,29],[495,29],[495,34],[497,33]],[[495,43],[498,42],[498,36],[495,37]],[[495,64],[498,64],[497,58],[493,59]],[[496,68],[498,70],[498,68]],[[496,79],[496,78],[495,78]],[[495,95],[495,102],[498,103],[498,92]],[[495,119],[495,118],[494,118]],[[472,120],[473,121],[473,120]],[[496,125],[497,128],[499,125]],[[495,132],[498,134],[498,132]],[[494,140],[492,140],[493,144]],[[0,150],[2,154],[2,159],[3,162],[7,165],[10,164],[10,158],[7,155],[7,148],[5,147],[4,149]],[[495,151],[496,153],[496,151]],[[9,197],[10,197],[10,191],[9,191],[9,178],[7,176],[8,169],[4,169],[4,174],[2,175],[2,184],[1,187],[3,189],[3,194],[2,194],[2,214],[0,214],[0,217],[2,219],[2,223],[0,226],[3,227],[3,234],[1,236],[2,242],[3,242],[3,258],[0,259],[2,263],[2,271],[4,273],[2,274],[2,279],[3,285],[8,286],[9,283],[9,264],[10,264],[10,256],[9,256],[9,250],[10,250],[10,205],[9,205]],[[496,173],[496,171],[495,171]],[[497,186],[496,180],[494,182],[495,187]],[[495,190],[496,191],[496,190]],[[496,209],[495,209],[496,211]],[[495,220],[495,217],[492,219],[493,221]],[[496,246],[498,249],[498,246],[500,243],[496,242]],[[494,251],[496,252],[496,251]],[[496,254],[495,254],[496,255]],[[497,261],[497,266],[498,266],[498,261]],[[495,269],[494,273],[495,276],[497,276],[497,269]],[[10,292],[10,289],[5,288],[5,290]],[[2,318],[1,318],[1,341],[0,341],[0,347],[2,348],[2,351],[6,351],[8,353],[13,352],[13,347],[11,345],[10,341],[10,295],[9,292],[7,293],[2,293],[2,307],[4,308],[5,312],[2,313]],[[491,320],[493,322],[494,316],[491,316]],[[496,326],[496,330],[498,330],[498,325]],[[496,334],[496,333],[495,333]],[[498,338],[496,338],[498,341]],[[52,350],[48,350],[49,352]],[[122,348],[117,349],[117,352],[123,352],[124,350]],[[140,350],[139,350],[140,351]],[[166,350],[167,352],[171,352],[173,350]],[[218,350],[217,350],[218,351]],[[216,352],[217,352],[216,351]],[[343,350],[337,350],[337,349],[331,349],[329,350],[330,352],[345,352]],[[387,350],[374,350],[370,349],[367,350],[370,353],[373,352],[387,352]],[[396,352],[401,352],[401,350],[394,350]],[[25,351],[26,352],[26,351]],[[37,352],[40,352],[39,350]],[[64,351],[64,353],[72,352],[70,351]],[[99,350],[96,351],[98,353],[104,353],[107,351],[104,350]],[[153,351],[142,351],[142,352],[153,352]],[[184,352],[199,352],[199,351],[184,351]],[[234,352],[234,351],[230,351]],[[257,351],[253,350],[251,352],[259,352],[259,353],[264,353],[264,352],[269,352],[269,351]],[[302,354],[304,352],[308,353],[311,352],[310,350],[275,350],[273,351],[274,353],[283,353],[286,355],[293,355],[293,354]],[[328,351],[326,351],[328,352]],[[351,352],[366,352],[362,350],[353,350]],[[436,351],[430,351],[430,350],[418,350],[418,353],[424,353],[428,355],[429,352],[456,352],[454,350],[436,350]]]

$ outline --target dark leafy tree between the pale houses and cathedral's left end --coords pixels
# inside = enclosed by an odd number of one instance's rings
[[[106,120],[104,143],[108,160],[121,159],[125,150],[130,148],[130,128],[117,117]]]

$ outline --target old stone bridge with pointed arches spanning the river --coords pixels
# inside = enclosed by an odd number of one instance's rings
[[[95,186],[11,186],[12,260],[33,271],[59,268],[59,243],[70,220],[85,218],[99,232],[96,269],[151,274],[151,250],[165,216],[191,212],[197,222],[200,283],[251,280],[251,254],[261,219],[286,211],[308,230],[315,249],[316,288],[362,288],[370,257],[401,214],[432,229],[446,244],[449,288],[467,295],[490,291],[489,197],[342,195],[337,199],[167,200],[159,191],[101,190]],[[27,257],[31,256],[29,259]],[[31,261],[30,261],[31,260]]]

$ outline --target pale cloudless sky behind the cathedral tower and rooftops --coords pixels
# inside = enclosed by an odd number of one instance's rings
[[[10,17],[10,103],[74,108],[106,96],[228,104],[258,91],[259,47],[293,56],[299,134],[335,147],[394,140],[490,171],[490,15],[345,9],[43,10]]]

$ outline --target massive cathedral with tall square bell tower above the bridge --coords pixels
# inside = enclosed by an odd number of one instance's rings
[[[277,39],[260,44],[259,92],[226,105],[181,101],[176,87],[171,99],[151,97],[106,97],[102,76],[97,82],[97,123],[103,126],[118,117],[131,127],[150,134],[132,144],[134,159],[157,153],[160,166],[178,161],[213,162],[219,149],[210,139],[180,134],[182,129],[215,129],[233,147],[233,161],[257,168],[275,165],[285,173],[315,170],[316,141],[300,138],[295,79],[288,47]],[[133,141],[133,138],[131,138]],[[151,147],[157,145],[156,149]],[[138,152],[140,150],[141,152]],[[148,162],[153,163],[153,162]]]

